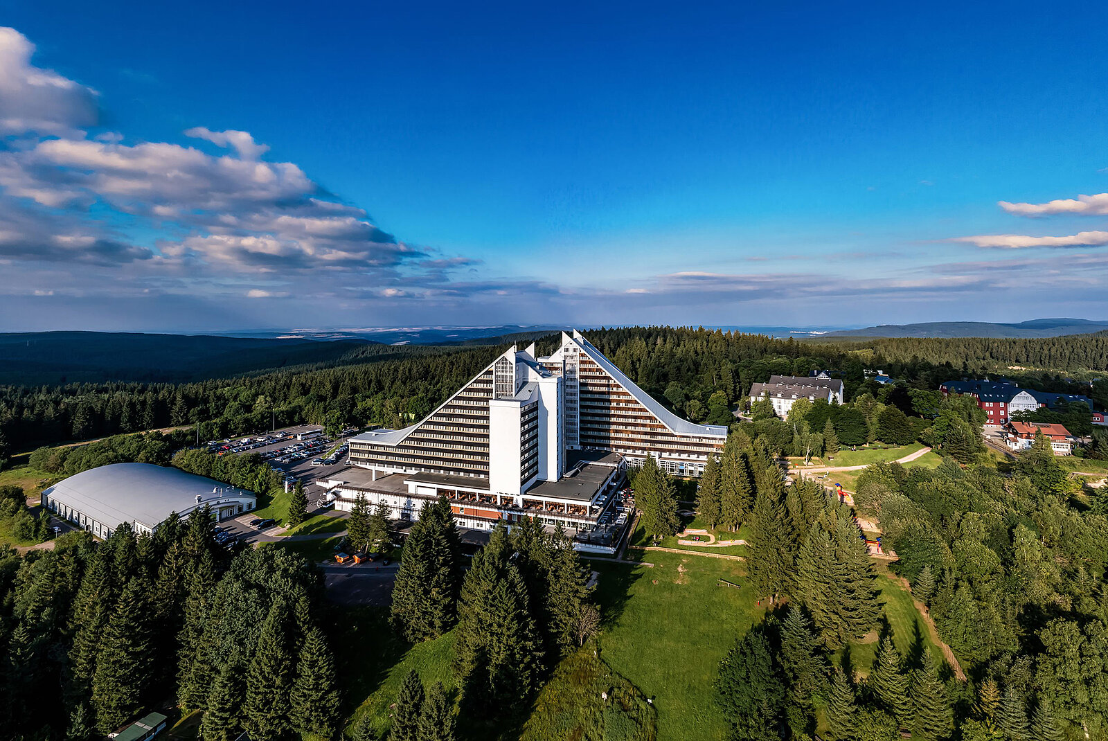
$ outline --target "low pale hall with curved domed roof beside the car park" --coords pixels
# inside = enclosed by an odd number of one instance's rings
[[[74,474],[42,492],[42,506],[98,537],[123,523],[153,533],[176,512],[212,508],[217,519],[257,506],[254,492],[151,463],[112,463]]]

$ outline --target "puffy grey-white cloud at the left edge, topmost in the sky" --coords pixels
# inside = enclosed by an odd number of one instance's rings
[[[96,123],[96,92],[31,64],[34,44],[0,28],[0,134],[80,135]]]

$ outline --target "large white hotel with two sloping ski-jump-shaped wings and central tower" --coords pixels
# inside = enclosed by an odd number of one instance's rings
[[[361,494],[413,519],[443,495],[462,526],[537,516],[587,533],[628,464],[653,455],[669,473],[699,476],[726,439],[726,426],[678,418],[581,332],[563,332],[545,358],[534,343],[511,348],[422,421],[352,438],[351,466],[320,483],[340,510]]]

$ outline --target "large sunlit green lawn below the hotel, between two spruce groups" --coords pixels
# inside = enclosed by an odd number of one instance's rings
[[[653,697],[659,741],[722,739],[712,701],[720,659],[762,610],[743,587],[743,564],[721,558],[647,552],[655,564],[592,560],[601,573],[604,613],[601,658]]]

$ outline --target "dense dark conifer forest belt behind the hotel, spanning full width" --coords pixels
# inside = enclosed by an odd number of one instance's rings
[[[864,370],[879,368],[913,388],[987,373],[1023,379],[1045,391],[1085,393],[1108,405],[1108,381],[1087,379],[1108,369],[1104,335],[1019,340],[872,340],[798,342],[760,335],[638,327],[589,331],[592,342],[643,389],[683,415],[725,420],[771,374],[808,375],[830,369],[848,399],[878,385]],[[540,352],[555,338],[538,342]],[[420,419],[503,350],[381,346],[335,360],[334,367],[297,367],[194,383],[68,383],[0,385],[0,459],[69,440],[199,424],[201,438],[312,422],[400,426]],[[408,357],[404,357],[407,353]],[[1084,380],[1083,380],[1084,379]]]

